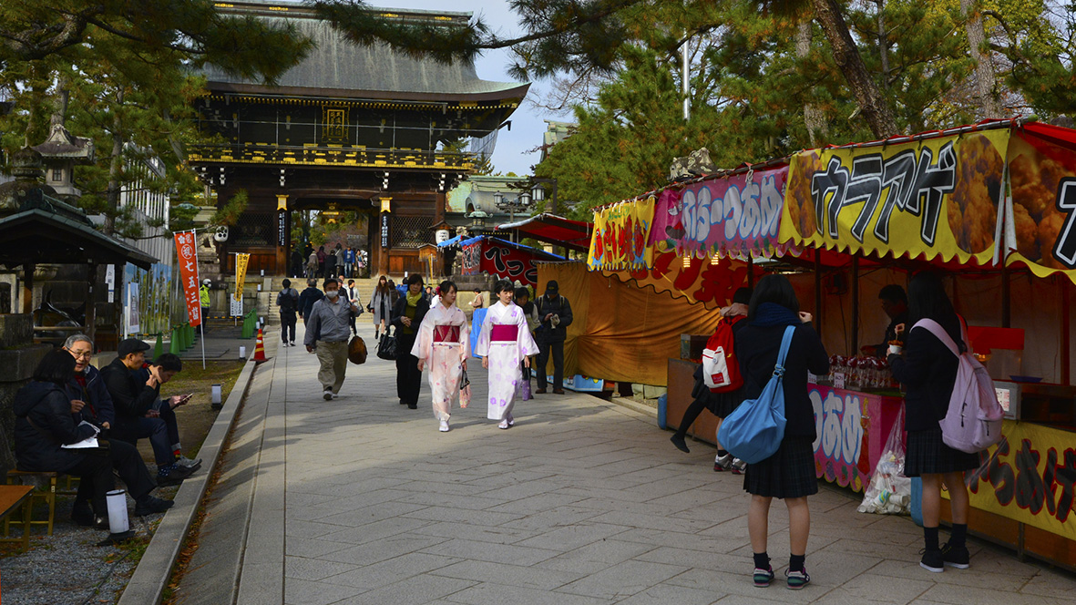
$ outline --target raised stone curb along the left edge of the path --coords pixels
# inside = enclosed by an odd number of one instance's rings
[[[252,353],[253,355],[253,353]],[[168,578],[172,575],[172,566],[180,555],[183,541],[187,532],[194,523],[198,506],[201,504],[206,490],[209,487],[210,478],[216,468],[221,455],[224,453],[225,439],[231,425],[236,421],[239,406],[246,395],[251,385],[251,377],[254,375],[255,362],[247,358],[243,365],[243,370],[236,380],[228,400],[221,408],[213,426],[210,428],[206,440],[202,441],[198,455],[203,461],[206,470],[198,474],[197,479],[187,479],[180,486],[180,491],[175,494],[175,506],[168,509],[157,531],[153,534],[150,545],[139,561],[134,574],[131,576],[127,587],[124,589],[117,605],[156,605],[165,592]]]

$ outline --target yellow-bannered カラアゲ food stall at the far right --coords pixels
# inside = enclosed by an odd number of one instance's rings
[[[973,351],[1008,417],[1003,441],[966,476],[969,527],[1021,554],[1076,566],[1068,305],[1076,132],[983,122],[808,151],[790,167],[781,242],[850,255],[853,286],[864,263],[948,276],[958,312],[974,326]],[[817,283],[821,276],[812,277]],[[862,301],[856,293],[852,308],[866,308]],[[823,313],[823,324],[833,319]],[[853,320],[852,351],[860,328]]]

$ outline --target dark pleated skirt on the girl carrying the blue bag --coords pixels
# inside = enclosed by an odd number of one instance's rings
[[[748,464],[744,490],[750,494],[777,498],[803,497],[818,493],[815,476],[815,448],[808,437],[787,437],[774,455]]]

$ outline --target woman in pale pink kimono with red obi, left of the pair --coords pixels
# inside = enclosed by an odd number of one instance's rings
[[[467,316],[456,307],[456,284],[441,282],[437,305],[419,326],[411,354],[419,357],[419,371],[429,364],[429,389],[434,392],[434,416],[441,432],[449,430],[452,399],[459,393],[459,378],[467,369],[470,330]]]

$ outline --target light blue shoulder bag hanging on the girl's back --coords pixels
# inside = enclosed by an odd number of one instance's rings
[[[784,357],[789,354],[795,330],[792,325],[784,328],[774,376],[766,382],[759,398],[745,399],[718,430],[721,446],[748,464],[774,455],[784,438]]]

